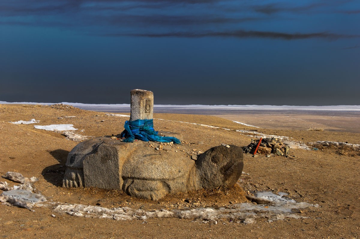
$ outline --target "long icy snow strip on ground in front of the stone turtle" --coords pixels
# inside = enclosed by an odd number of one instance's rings
[[[267,194],[261,192],[259,197],[266,197],[267,200],[274,202],[273,206],[255,205],[252,203],[239,203],[221,208],[195,208],[195,209],[174,209],[171,211],[161,209],[145,211],[143,209],[132,209],[129,207],[104,208],[98,206],[86,206],[81,204],[63,204],[58,205],[54,211],[58,213],[67,213],[72,216],[90,217],[90,218],[108,218],[112,220],[147,220],[148,218],[188,218],[203,222],[211,221],[216,223],[220,219],[241,220],[244,223],[255,222],[256,218],[270,218],[272,221],[282,220],[284,218],[305,218],[300,215],[294,215],[292,209],[318,207],[309,203],[297,203],[291,199],[284,199],[279,195]],[[281,199],[279,199],[281,198]]]

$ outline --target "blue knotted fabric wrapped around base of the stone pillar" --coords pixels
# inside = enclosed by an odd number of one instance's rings
[[[125,130],[122,131],[121,137],[125,137],[123,142],[133,142],[135,139],[142,141],[174,142],[180,144],[180,140],[175,137],[163,137],[158,135],[154,130],[153,120],[133,120],[125,121]]]

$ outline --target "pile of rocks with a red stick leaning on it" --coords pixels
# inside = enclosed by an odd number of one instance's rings
[[[243,148],[244,153],[254,153],[257,144],[260,139],[252,139],[251,143],[248,146]],[[258,154],[266,154],[266,155],[279,155],[279,156],[287,156],[289,154],[289,147],[286,146],[281,139],[279,138],[265,138],[262,139],[259,148],[257,149]]]

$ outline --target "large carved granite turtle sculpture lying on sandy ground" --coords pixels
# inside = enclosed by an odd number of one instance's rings
[[[98,137],[68,154],[63,187],[121,189],[151,200],[201,188],[231,188],[243,170],[243,150],[229,146],[213,147],[194,161],[175,150],[154,150],[143,141]]]

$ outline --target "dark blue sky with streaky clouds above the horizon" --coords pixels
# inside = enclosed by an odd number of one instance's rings
[[[360,105],[359,0],[0,0],[0,100]]]

